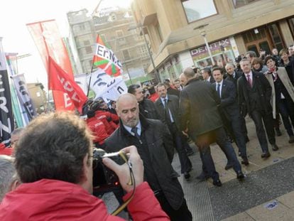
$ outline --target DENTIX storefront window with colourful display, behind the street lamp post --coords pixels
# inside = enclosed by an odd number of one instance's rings
[[[234,52],[229,38],[209,44],[209,49],[212,53],[214,65],[224,67],[227,63],[234,62]],[[206,46],[195,48],[190,51],[195,67],[200,69],[211,67],[212,60],[209,58]]]

